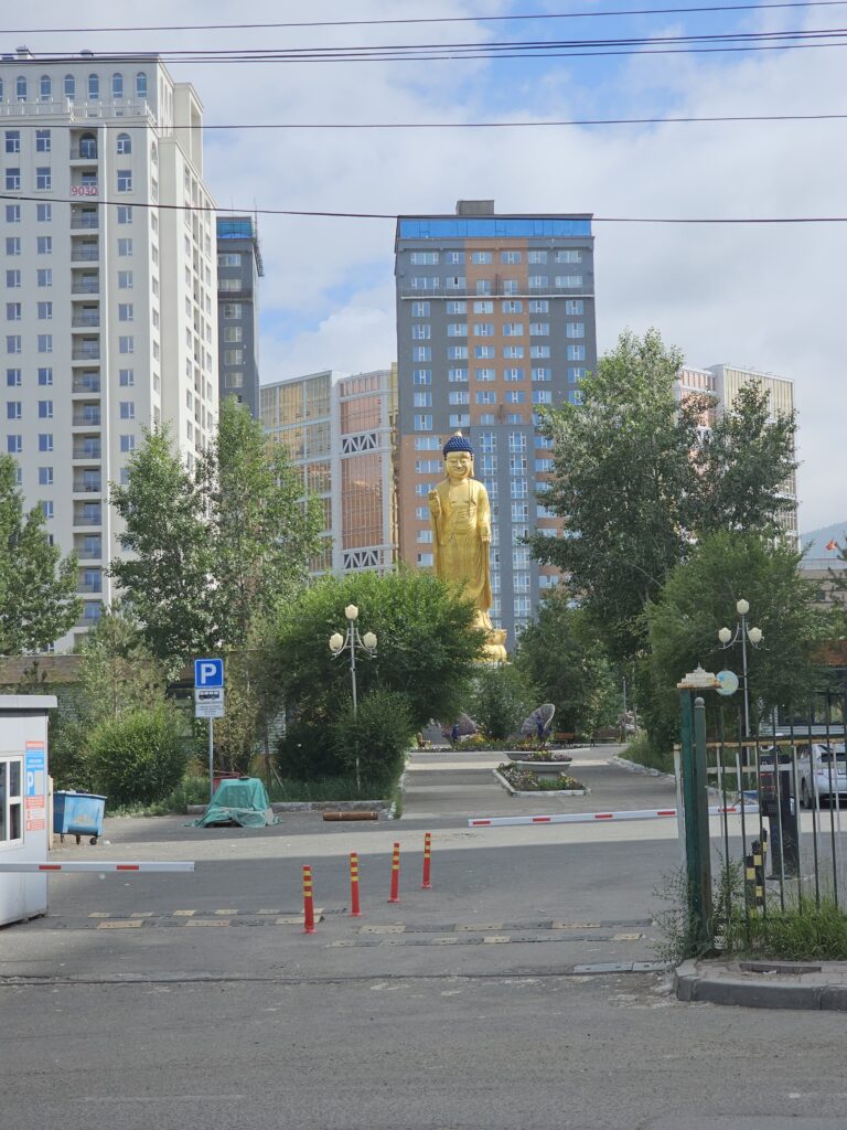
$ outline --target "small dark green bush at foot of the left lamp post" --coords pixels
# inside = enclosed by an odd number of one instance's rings
[[[353,714],[352,703],[331,727],[338,759],[361,780],[383,785],[395,777],[414,733],[404,695],[372,690]]]

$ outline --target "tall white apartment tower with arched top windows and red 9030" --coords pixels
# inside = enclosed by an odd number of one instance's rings
[[[115,596],[108,488],[142,429],[168,425],[189,466],[213,434],[201,125],[194,89],[156,55],[0,56],[3,450],[27,505],[41,503],[54,541],[79,558],[85,611],[58,647]]]

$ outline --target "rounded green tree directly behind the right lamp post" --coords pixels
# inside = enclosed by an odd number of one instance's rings
[[[815,651],[831,637],[830,617],[815,607],[817,585],[803,577],[800,562],[788,545],[722,532],[705,538],[673,570],[645,616],[653,692],[643,705],[654,744],[670,748],[676,734],[676,684],[687,671],[699,663],[741,676],[740,652],[724,650],[717,633],[734,627],[742,597],[750,602],[749,624],[763,633],[762,646],[748,649],[751,724],[775,706],[803,702],[819,685]]]

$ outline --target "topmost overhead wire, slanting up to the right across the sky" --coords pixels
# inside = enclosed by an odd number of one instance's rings
[[[775,8],[844,7],[847,0],[791,0],[787,3],[701,5],[692,8],[629,8],[590,11],[518,12],[509,16],[413,16],[399,19],[288,20],[272,24],[138,24],[111,27],[12,27],[7,35],[102,35],[110,32],[236,32],[290,29],[298,27],[387,27],[414,24],[497,24],[517,20],[592,19],[597,16],[669,16],[708,11],[750,11]]]

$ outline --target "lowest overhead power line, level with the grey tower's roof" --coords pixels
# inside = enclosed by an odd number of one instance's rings
[[[38,203],[44,203],[44,194],[37,197],[24,195],[20,193],[0,192],[0,200],[10,200],[15,202],[24,201],[37,201]],[[98,208],[117,208],[126,207],[129,203],[132,208],[139,209],[154,209],[161,208],[165,211],[198,211],[198,212],[213,212],[216,215],[221,215],[224,217],[233,215],[246,215],[251,214],[253,216],[295,216],[295,217],[314,217],[316,219],[418,219],[421,217],[428,217],[436,214],[430,212],[353,212],[353,211],[317,211],[314,209],[294,209],[294,208],[217,208],[211,205],[167,205],[160,202],[152,202],[149,200],[99,200],[93,199],[91,197],[51,197],[51,203],[66,203],[66,205],[79,205],[86,203],[87,206],[96,205]],[[516,212],[516,216],[524,215],[522,212]],[[532,214],[532,215],[543,215],[543,214]],[[591,216],[592,224],[695,224],[695,225],[717,225],[717,224],[847,224],[847,216],[710,216],[710,217],[693,217],[693,216]]]

